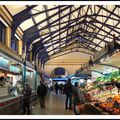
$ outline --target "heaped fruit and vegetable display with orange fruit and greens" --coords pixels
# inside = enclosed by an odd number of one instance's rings
[[[109,78],[106,80],[105,78]],[[85,97],[100,111],[120,115],[120,75],[113,72],[106,77],[98,77],[97,81],[86,85]]]

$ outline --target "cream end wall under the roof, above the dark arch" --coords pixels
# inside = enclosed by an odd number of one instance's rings
[[[85,53],[81,52],[70,53],[67,55],[50,59],[45,64],[44,70],[46,73],[51,74],[51,72],[55,68],[62,67],[68,72],[68,74],[74,74],[76,70],[80,69],[81,65],[88,62],[89,59],[90,55]]]

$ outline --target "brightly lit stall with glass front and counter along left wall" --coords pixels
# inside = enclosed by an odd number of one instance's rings
[[[23,101],[23,63],[0,51],[0,114],[20,114]],[[32,88],[31,104],[36,100],[35,70],[27,64],[26,78]]]

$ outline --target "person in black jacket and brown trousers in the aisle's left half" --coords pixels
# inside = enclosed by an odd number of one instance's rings
[[[40,85],[37,88],[37,94],[40,100],[41,108],[45,108],[45,97],[47,95],[47,87],[44,84],[43,80],[40,81]]]

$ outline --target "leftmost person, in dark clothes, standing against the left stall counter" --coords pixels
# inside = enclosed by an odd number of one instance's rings
[[[23,114],[30,114],[30,97],[32,94],[32,89],[28,83],[24,85],[23,88]]]

